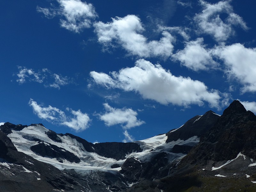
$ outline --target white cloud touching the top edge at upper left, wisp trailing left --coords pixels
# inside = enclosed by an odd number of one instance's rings
[[[37,12],[42,12],[45,17],[60,16],[60,26],[70,31],[79,33],[84,28],[90,28],[92,21],[98,16],[92,4],[80,0],[57,0],[59,7],[41,8],[37,6]]]

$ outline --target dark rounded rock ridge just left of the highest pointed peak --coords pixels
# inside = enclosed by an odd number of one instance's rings
[[[187,140],[193,136],[203,136],[212,126],[217,122],[220,116],[216,115],[213,111],[207,111],[203,116],[195,116],[189,119],[178,130],[166,133],[168,136],[166,143],[171,141]]]

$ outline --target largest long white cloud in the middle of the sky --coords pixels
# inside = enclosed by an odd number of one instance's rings
[[[95,73],[90,73],[95,83],[102,84],[93,75]],[[160,64],[153,65],[140,59],[136,61],[135,67],[123,68],[110,74],[112,77],[108,78],[112,78],[114,85],[108,84],[108,87],[138,92],[144,99],[185,107],[190,104],[201,106],[206,101],[211,107],[219,107],[220,94],[217,90],[208,90],[204,83],[189,77],[174,76]]]

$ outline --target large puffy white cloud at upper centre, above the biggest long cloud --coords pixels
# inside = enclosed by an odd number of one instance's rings
[[[161,57],[167,59],[171,56],[174,37],[167,31],[162,32],[159,41],[148,41],[142,35],[145,30],[140,19],[135,15],[127,15],[123,18],[112,18],[112,22],[94,23],[98,42],[104,45],[105,49],[121,45],[130,55],[139,57]]]

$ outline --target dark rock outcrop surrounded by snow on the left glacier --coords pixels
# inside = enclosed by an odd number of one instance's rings
[[[80,159],[75,154],[50,143],[39,143],[37,145],[33,145],[31,150],[40,156],[57,158],[59,161],[62,161],[61,159],[67,159],[69,162],[80,162]]]

